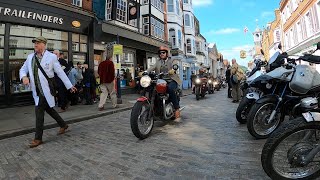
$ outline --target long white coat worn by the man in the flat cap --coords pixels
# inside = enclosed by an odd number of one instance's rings
[[[35,105],[38,106],[39,104],[39,96],[37,95],[36,87],[34,84],[34,75],[33,75],[33,67],[32,67],[32,59],[33,59],[34,53],[29,54],[27,60],[24,62],[23,66],[20,69],[20,79],[22,79],[24,76],[27,76],[29,73],[30,77],[30,85],[32,90],[33,99],[35,102]],[[72,84],[67,77],[66,73],[61,68],[61,65],[58,61],[58,58],[55,54],[50,53],[49,51],[45,51],[43,58],[40,62],[40,65],[42,66],[43,70],[47,73],[47,76],[49,78],[54,77],[54,73],[58,75],[58,77],[62,80],[64,85],[67,89],[70,89],[72,87]],[[49,104],[50,107],[55,106],[55,99],[50,93],[50,88],[48,81],[46,77],[42,74],[41,70],[38,68],[38,75],[41,83],[41,87],[43,90],[43,94]]]

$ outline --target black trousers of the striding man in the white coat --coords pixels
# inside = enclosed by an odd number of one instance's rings
[[[58,125],[63,128],[66,127],[66,123],[57,113],[56,110],[48,105],[47,100],[42,95],[39,96],[39,104],[36,106],[36,134],[35,140],[42,140],[43,126],[44,126],[44,112],[47,112],[54,120],[57,121]]]

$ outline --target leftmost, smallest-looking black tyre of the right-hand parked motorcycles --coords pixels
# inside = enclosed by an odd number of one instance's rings
[[[247,97],[243,97],[241,99],[239,106],[237,108],[237,111],[236,111],[236,118],[240,124],[247,123],[248,113],[250,111],[250,108],[252,107],[253,102],[254,102],[254,100],[248,99]],[[243,117],[243,113],[246,114],[246,117]]]

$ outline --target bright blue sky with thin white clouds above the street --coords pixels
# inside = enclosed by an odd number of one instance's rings
[[[243,66],[252,58],[240,59],[240,50],[254,46],[252,33],[257,25],[263,29],[275,19],[279,4],[280,0],[193,0],[194,14],[207,42],[216,43],[225,59],[236,58]],[[248,33],[244,33],[245,27]]]

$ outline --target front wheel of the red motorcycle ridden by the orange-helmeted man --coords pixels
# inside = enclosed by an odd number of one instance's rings
[[[133,134],[139,139],[147,138],[153,129],[154,119],[148,119],[150,111],[148,102],[136,102],[131,111],[130,125]]]

